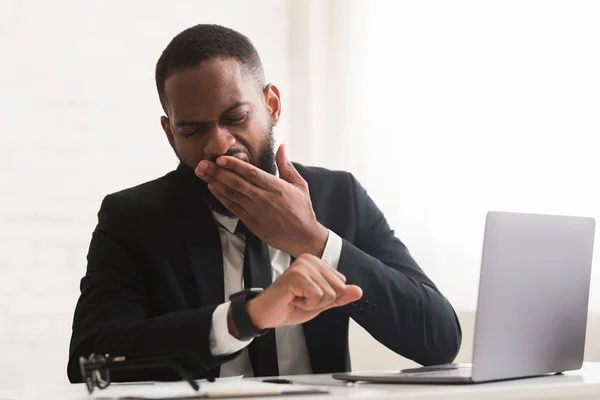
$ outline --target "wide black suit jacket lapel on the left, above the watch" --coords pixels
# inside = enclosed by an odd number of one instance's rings
[[[225,300],[223,251],[219,231],[192,170],[180,165],[174,174],[173,193],[178,234],[193,271],[201,304],[220,304]]]

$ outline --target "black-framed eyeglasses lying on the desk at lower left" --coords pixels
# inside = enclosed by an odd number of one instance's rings
[[[192,389],[198,391],[200,390],[200,385],[194,380],[192,374],[173,359],[182,356],[191,358],[200,367],[203,375],[209,382],[215,381],[215,377],[204,366],[202,361],[195,354],[188,351],[131,354],[128,356],[91,354],[88,358],[79,357],[79,368],[81,379],[85,382],[90,394],[94,391],[94,387],[106,389],[110,385],[111,371],[131,371],[150,368],[168,368],[179,375],[182,380],[189,383]]]

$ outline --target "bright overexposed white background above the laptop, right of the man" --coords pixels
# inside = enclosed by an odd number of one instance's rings
[[[473,311],[488,210],[600,219],[600,3],[371,5],[357,173],[453,304]],[[600,311],[600,257],[590,304]]]

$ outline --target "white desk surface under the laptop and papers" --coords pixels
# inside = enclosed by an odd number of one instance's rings
[[[358,383],[354,386],[345,386],[343,383],[333,380],[328,375],[303,375],[287,378],[292,381],[318,385],[319,388],[327,389],[331,393],[329,395],[318,396],[285,396],[280,397],[280,399],[600,399],[600,363],[585,363],[580,371],[567,372],[564,375],[475,385],[379,385]],[[183,382],[181,384],[187,385]],[[156,383],[145,387],[151,392],[152,388],[160,385],[163,384]],[[115,385],[105,390],[96,390],[94,392],[95,396],[89,396],[83,385],[65,383],[54,388],[39,390],[0,390],[0,399],[109,399],[125,394],[123,392],[124,388],[126,386]],[[277,397],[267,397],[265,399],[277,399]]]

